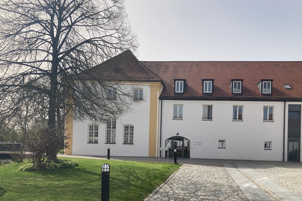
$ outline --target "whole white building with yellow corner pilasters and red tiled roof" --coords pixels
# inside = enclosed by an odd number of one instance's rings
[[[106,64],[116,60],[140,104],[107,124],[69,121],[66,154],[166,157],[169,146],[169,156],[302,161],[302,62],[138,61],[127,50]]]

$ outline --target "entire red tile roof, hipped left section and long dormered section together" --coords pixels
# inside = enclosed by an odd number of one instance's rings
[[[160,81],[163,99],[299,99],[302,61],[138,61],[130,50],[87,71],[104,80]],[[174,95],[174,79],[187,82],[184,95]],[[202,94],[202,79],[214,79],[213,95]],[[243,79],[240,97],[231,94],[230,80]],[[261,95],[257,83],[271,79],[272,96]],[[290,84],[290,90],[283,84]]]

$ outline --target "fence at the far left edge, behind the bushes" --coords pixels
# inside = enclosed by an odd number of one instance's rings
[[[0,142],[0,164],[9,163],[16,155],[22,154],[22,143]]]

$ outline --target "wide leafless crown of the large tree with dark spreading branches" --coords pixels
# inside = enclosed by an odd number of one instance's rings
[[[15,114],[24,99],[47,112],[48,127],[68,110],[95,122],[121,115],[129,90],[106,81],[114,69],[92,67],[135,51],[136,38],[122,0],[0,0],[0,115]],[[119,98],[108,99],[108,90]]]

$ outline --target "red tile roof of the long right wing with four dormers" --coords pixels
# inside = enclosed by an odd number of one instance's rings
[[[165,83],[161,96],[174,96],[173,79],[186,79],[184,96],[205,97],[202,94],[202,79],[214,79],[213,96],[233,97],[231,79],[243,79],[244,97],[264,97],[257,83],[272,79],[272,96],[302,97],[301,61],[141,61]],[[291,90],[283,84],[290,84]]]

